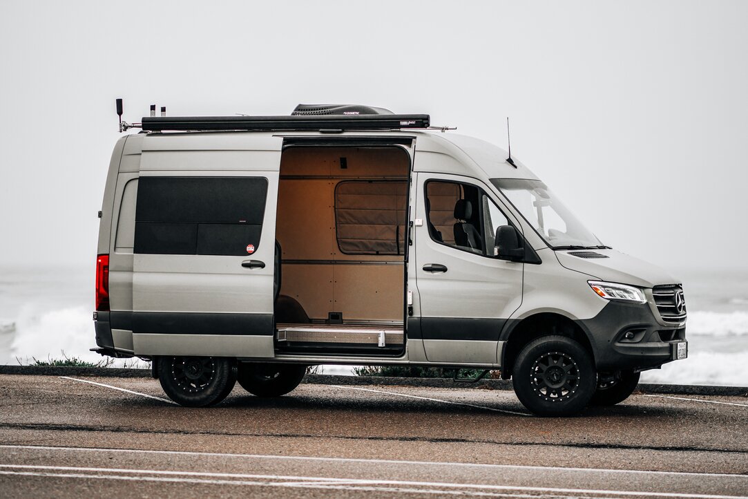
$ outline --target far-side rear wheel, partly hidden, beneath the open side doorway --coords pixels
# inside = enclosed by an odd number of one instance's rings
[[[257,397],[281,397],[304,379],[307,367],[299,364],[239,364],[238,381]]]

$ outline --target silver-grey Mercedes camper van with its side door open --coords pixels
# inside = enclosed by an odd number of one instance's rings
[[[109,164],[94,350],[152,361],[181,405],[237,381],[278,397],[319,364],[420,366],[498,370],[527,409],[562,416],[687,356],[677,279],[427,114],[121,111],[141,131]]]

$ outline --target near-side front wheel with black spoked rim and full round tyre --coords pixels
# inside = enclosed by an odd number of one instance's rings
[[[565,336],[533,340],[522,349],[512,372],[515,394],[539,416],[571,416],[589,403],[597,373],[591,355]]]

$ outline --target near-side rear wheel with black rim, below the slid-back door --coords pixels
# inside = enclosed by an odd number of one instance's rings
[[[188,407],[215,405],[236,384],[236,360],[224,357],[161,357],[159,381],[170,399]]]

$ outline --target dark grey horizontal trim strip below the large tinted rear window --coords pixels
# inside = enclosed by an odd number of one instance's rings
[[[272,313],[111,312],[111,327],[133,333],[273,336]]]

